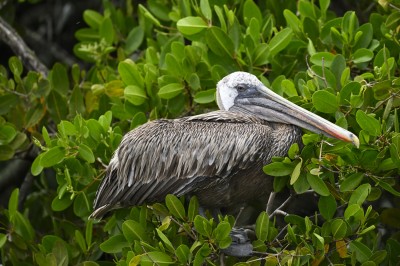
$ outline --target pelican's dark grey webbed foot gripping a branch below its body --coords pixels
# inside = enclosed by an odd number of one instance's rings
[[[228,256],[248,257],[253,252],[253,245],[250,242],[247,232],[243,228],[233,228],[230,236],[232,244],[222,250]]]

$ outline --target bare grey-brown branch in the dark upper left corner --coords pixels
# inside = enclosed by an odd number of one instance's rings
[[[47,77],[49,70],[40,62],[35,53],[26,45],[21,36],[0,17],[0,39],[6,43],[22,60],[29,70],[34,70]]]

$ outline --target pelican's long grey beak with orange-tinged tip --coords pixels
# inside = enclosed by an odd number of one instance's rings
[[[357,148],[360,145],[357,136],[350,131],[295,105],[261,84],[239,94],[232,110],[236,108],[269,122],[293,124],[314,133],[351,142]]]

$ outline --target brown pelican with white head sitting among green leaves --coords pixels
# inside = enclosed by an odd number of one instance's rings
[[[293,104],[254,75],[218,82],[220,111],[149,122],[127,133],[115,151],[91,218],[121,207],[196,195],[206,208],[265,198],[272,178],[262,166],[301,141],[301,129],[359,145],[351,132]]]

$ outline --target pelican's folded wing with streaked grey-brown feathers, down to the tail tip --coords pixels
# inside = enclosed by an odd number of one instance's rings
[[[92,217],[217,185],[265,157],[269,134],[262,120],[226,111],[149,122],[124,136],[97,191]]]

